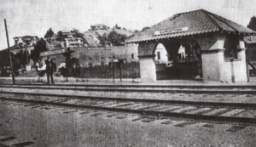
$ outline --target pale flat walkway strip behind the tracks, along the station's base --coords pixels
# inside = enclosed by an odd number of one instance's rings
[[[236,82],[236,83],[224,83],[224,82],[203,82],[200,80],[158,80],[156,82],[141,82],[140,79],[124,78],[122,82],[120,79],[111,78],[75,78],[75,77],[54,77],[56,84],[104,84],[104,85],[256,85],[256,77],[250,77],[250,82]],[[15,77],[17,84],[46,84],[46,76],[40,77]],[[11,77],[0,77],[0,83],[12,83]]]

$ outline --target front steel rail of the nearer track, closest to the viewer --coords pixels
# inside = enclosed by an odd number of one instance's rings
[[[42,100],[33,100],[33,99],[16,99],[16,98],[4,98],[0,97],[2,100],[11,100],[18,102],[34,103],[38,105],[58,105],[66,106],[73,108],[82,108],[82,109],[93,109],[93,110],[108,110],[114,112],[124,112],[124,113],[134,113],[134,114],[158,114],[163,117],[170,117],[174,119],[183,119],[196,122],[217,122],[217,123],[237,123],[243,125],[256,125],[256,118],[249,117],[234,117],[234,116],[204,116],[196,114],[185,114],[185,113],[175,113],[175,112],[166,112],[166,111],[154,111],[154,110],[132,110],[132,109],[123,109],[116,107],[102,107],[102,106],[93,106],[93,105],[74,105],[74,104],[63,104],[63,103],[54,103],[49,101]]]

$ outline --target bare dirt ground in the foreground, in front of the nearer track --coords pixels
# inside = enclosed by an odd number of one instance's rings
[[[254,147],[256,127],[245,127],[238,132],[226,131],[230,124],[195,123],[185,127],[176,127],[184,121],[156,120],[142,122],[131,120],[139,117],[131,114],[118,114],[123,119],[107,117],[110,112],[90,110],[79,114],[78,110],[67,113],[67,109],[48,109],[26,107],[24,105],[0,104],[0,136],[15,136],[9,141],[34,141],[31,146],[48,147]],[[99,116],[92,114],[102,113]]]

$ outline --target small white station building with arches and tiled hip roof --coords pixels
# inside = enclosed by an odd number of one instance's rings
[[[142,82],[156,81],[155,49],[163,44],[173,65],[171,75],[201,76],[204,82],[247,82],[243,37],[256,32],[204,9],[174,14],[139,32],[126,43],[138,43]],[[182,49],[184,50],[180,50]],[[181,58],[183,54],[183,59]],[[182,67],[182,69],[180,69]]]

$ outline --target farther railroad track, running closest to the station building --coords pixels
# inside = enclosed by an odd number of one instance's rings
[[[244,93],[256,94],[254,85],[98,85],[98,84],[2,84],[0,88],[52,89],[101,92],[140,92],[140,93]]]

